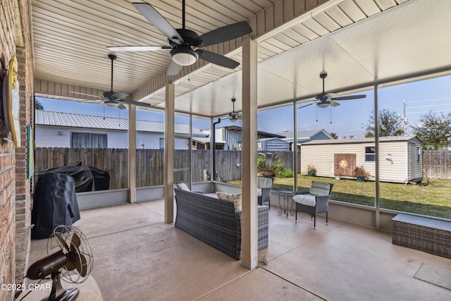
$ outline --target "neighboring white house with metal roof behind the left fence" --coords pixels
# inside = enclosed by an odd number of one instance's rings
[[[53,111],[35,111],[35,147],[128,148],[128,119]],[[190,126],[176,123],[175,135],[190,135]],[[192,137],[208,137],[192,128]],[[162,149],[164,123],[136,121],[136,148]],[[175,139],[175,149],[189,149],[188,139]]]

